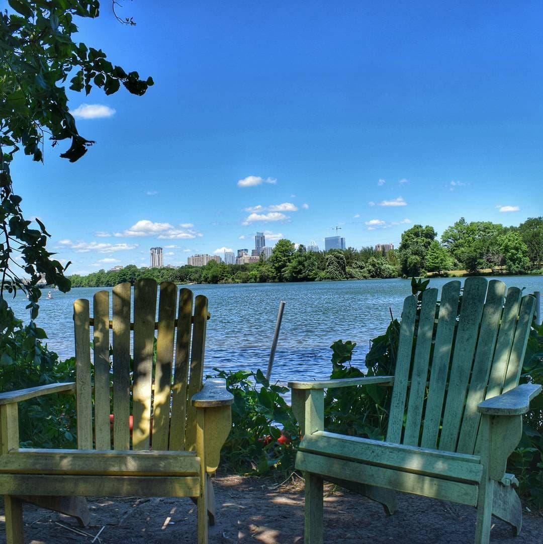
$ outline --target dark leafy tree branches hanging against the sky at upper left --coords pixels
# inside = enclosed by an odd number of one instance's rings
[[[42,161],[46,134],[52,146],[69,140],[60,157],[75,162],[94,142],[79,134],[70,113],[65,84],[89,94],[93,86],[106,95],[121,84],[132,94],[143,95],[153,84],[138,72],[126,72],[107,60],[106,54],[83,43],[76,44],[77,17],[98,16],[98,0],[9,0],[14,13],[0,13],[0,297],[4,290],[29,294],[31,319],[38,314],[41,274],[62,291],[70,289],[59,261],[46,250],[50,234],[38,219],[38,228],[24,218],[21,197],[14,193],[10,164],[21,150]],[[15,261],[22,257],[22,267]],[[69,264],[69,263],[68,263]],[[23,282],[21,274],[30,276]]]

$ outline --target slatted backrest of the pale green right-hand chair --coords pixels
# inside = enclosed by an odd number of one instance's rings
[[[519,383],[534,313],[502,281],[469,277],[405,299],[387,441],[476,452],[477,405]]]

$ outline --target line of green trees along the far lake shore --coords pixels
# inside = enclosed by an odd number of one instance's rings
[[[427,225],[414,225],[402,234],[398,250],[307,251],[281,239],[268,259],[258,263],[225,264],[211,261],[203,267],[98,270],[87,276],[72,275],[72,287],[111,287],[143,277],[175,283],[265,283],[283,281],[363,280],[369,278],[465,274],[543,273],[543,217],[529,218],[519,226],[504,227],[490,221],[460,218],[437,239]]]

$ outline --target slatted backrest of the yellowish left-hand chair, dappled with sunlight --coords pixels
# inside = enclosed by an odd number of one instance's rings
[[[97,292],[92,318],[88,300],[73,303],[78,448],[193,450],[196,421],[189,399],[202,387],[207,298],[196,296],[193,311],[190,289],[177,293],[174,283],[163,282],[156,321],[157,282],[136,281],[133,304],[131,292],[129,283],[113,288],[112,312],[109,291]]]

